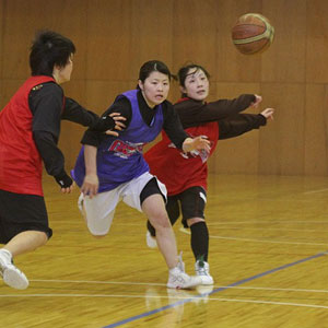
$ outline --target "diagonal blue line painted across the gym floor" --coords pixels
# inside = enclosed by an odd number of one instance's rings
[[[151,316],[151,315],[153,315],[153,314],[156,314],[156,313],[159,313],[159,312],[162,312],[162,311],[165,311],[165,309],[168,309],[168,308],[172,308],[172,307],[176,307],[176,306],[183,305],[183,304],[185,304],[185,303],[190,303],[190,302],[195,301],[195,298],[200,298],[200,297],[203,297],[203,296],[207,296],[207,295],[211,295],[211,294],[215,294],[215,293],[225,291],[225,290],[227,290],[229,288],[236,286],[236,285],[241,285],[241,284],[243,284],[243,283],[245,283],[245,282],[248,282],[248,281],[255,280],[255,279],[258,279],[258,278],[261,278],[261,277],[265,277],[265,276],[274,273],[274,272],[277,272],[277,271],[281,271],[281,270],[283,270],[283,269],[286,269],[286,268],[290,268],[290,267],[293,267],[293,266],[296,266],[296,265],[300,265],[300,263],[303,263],[303,262],[306,262],[306,261],[309,261],[309,260],[312,260],[312,259],[315,259],[315,258],[325,256],[325,255],[327,255],[327,254],[328,254],[328,251],[318,253],[318,254],[316,254],[316,255],[313,255],[313,256],[303,258],[303,259],[297,260],[297,261],[295,261],[295,262],[291,262],[291,263],[288,263],[288,265],[278,267],[278,268],[276,268],[276,269],[271,269],[271,270],[265,271],[265,272],[262,272],[262,273],[258,273],[258,274],[251,276],[251,277],[249,277],[249,278],[239,280],[239,281],[234,282],[234,283],[232,283],[232,284],[229,284],[229,285],[226,285],[226,286],[223,286],[223,288],[220,288],[220,289],[215,289],[215,290],[213,290],[213,291],[210,292],[210,293],[198,294],[198,295],[195,295],[195,296],[192,296],[192,297],[190,297],[190,298],[185,298],[185,300],[181,300],[181,301],[178,301],[178,302],[168,304],[168,305],[166,305],[166,306],[162,306],[162,307],[159,307],[159,308],[156,308],[156,309],[153,309],[153,311],[149,311],[149,312],[142,313],[142,314],[138,315],[138,316],[133,316],[133,317],[130,317],[130,318],[127,318],[127,319],[117,321],[117,323],[115,323],[115,324],[105,326],[105,327],[103,327],[103,328],[114,328],[114,327],[119,327],[119,326],[122,326],[122,325],[125,325],[125,324],[128,324],[128,323],[131,323],[131,321],[136,321],[136,320],[138,320],[138,319],[140,319],[140,318],[149,317],[149,316]]]

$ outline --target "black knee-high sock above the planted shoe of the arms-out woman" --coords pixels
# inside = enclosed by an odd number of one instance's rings
[[[208,261],[209,256],[209,231],[206,222],[197,222],[190,226],[191,249],[196,260]]]

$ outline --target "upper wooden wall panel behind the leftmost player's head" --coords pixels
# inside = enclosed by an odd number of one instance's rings
[[[85,26],[85,0],[79,1],[79,5],[74,0],[10,0],[2,1],[2,4],[3,79],[26,79],[30,75],[28,54],[37,30],[55,30],[74,42],[74,36]],[[84,51],[82,48],[81,54]]]

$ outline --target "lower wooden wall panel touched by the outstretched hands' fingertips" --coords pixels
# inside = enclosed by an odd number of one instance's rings
[[[259,173],[302,175],[305,85],[265,83],[261,92],[276,114],[270,129],[260,131]]]

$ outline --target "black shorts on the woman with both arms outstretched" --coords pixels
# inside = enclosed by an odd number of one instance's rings
[[[183,214],[183,224],[188,227],[187,220],[192,218],[204,219],[207,192],[202,187],[190,187],[185,191],[167,197],[166,211],[172,225]]]

